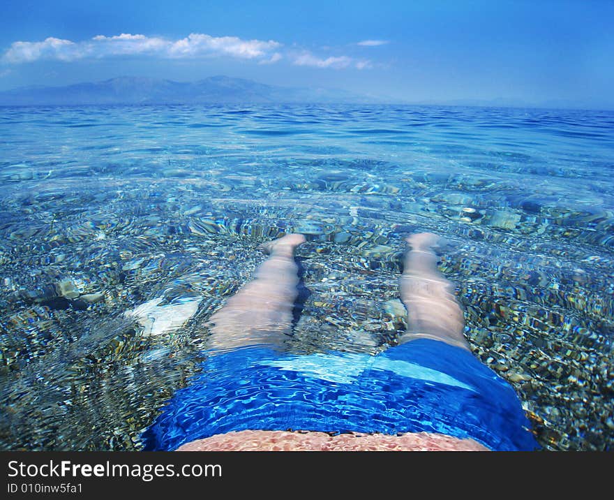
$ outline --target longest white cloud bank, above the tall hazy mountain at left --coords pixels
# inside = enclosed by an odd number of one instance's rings
[[[47,38],[43,42],[14,42],[3,54],[3,61],[24,63],[38,59],[74,61],[84,57],[110,57],[117,55],[152,55],[174,59],[202,56],[229,56],[239,59],[281,59],[275,50],[281,47],[276,41],[243,40],[237,36],[210,36],[193,33],[180,40],[156,36],[122,33],[116,36],[97,35],[91,40],[73,42],[59,38]]]

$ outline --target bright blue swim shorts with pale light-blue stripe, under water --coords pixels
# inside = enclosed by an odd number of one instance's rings
[[[463,348],[417,339],[384,353],[211,355],[142,438],[146,450],[246,429],[437,432],[491,450],[539,448],[514,389]]]

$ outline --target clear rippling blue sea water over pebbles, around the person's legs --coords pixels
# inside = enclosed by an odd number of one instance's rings
[[[541,446],[611,448],[613,168],[614,112],[0,108],[0,446],[140,449],[285,232],[308,237],[292,348],[385,348],[403,237],[430,230]],[[198,309],[147,336],[124,312],[160,297]]]

